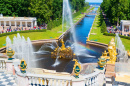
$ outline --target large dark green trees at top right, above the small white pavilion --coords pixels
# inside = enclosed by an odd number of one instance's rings
[[[103,0],[101,8],[112,24],[130,19],[130,0]]]

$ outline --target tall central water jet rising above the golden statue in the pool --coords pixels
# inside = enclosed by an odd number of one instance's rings
[[[62,17],[63,17],[63,19],[62,19],[62,32],[64,31],[64,24],[66,22],[66,26],[71,28],[72,40],[74,42],[72,45],[73,51],[74,51],[75,55],[77,56],[78,61],[80,62],[79,57],[78,57],[81,55],[80,53],[82,53],[82,55],[84,55],[85,57],[95,57],[95,56],[87,55],[85,52],[86,50],[84,50],[84,53],[83,53],[83,51],[82,52],[80,51],[80,48],[78,46],[78,42],[76,39],[75,27],[74,27],[74,24],[72,21],[72,13],[71,13],[71,9],[70,9],[68,0],[63,0],[63,15],[62,15]]]

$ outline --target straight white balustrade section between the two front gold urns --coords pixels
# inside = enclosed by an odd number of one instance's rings
[[[70,76],[55,76],[55,75],[40,75],[40,74],[27,74],[29,78],[29,85],[40,84],[48,86],[71,86]]]

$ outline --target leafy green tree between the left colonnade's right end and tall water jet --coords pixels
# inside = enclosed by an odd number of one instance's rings
[[[29,10],[39,18],[38,22],[48,22],[52,16],[53,0],[31,0]]]

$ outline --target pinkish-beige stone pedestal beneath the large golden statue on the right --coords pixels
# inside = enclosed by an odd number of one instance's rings
[[[115,64],[107,64],[106,65],[106,73],[105,73],[106,77],[116,77],[116,73],[115,73]]]

